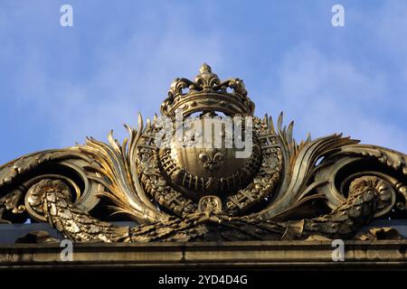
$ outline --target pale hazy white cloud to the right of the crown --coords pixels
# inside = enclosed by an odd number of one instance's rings
[[[277,83],[270,92],[273,106],[287,112],[286,119],[296,120],[299,138],[308,131],[314,138],[343,132],[364,144],[406,151],[403,124],[386,119],[392,109],[384,107],[389,91],[380,72],[328,58],[303,43],[286,53],[279,79],[272,82]],[[261,101],[267,103],[265,98]]]

